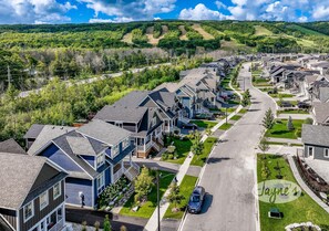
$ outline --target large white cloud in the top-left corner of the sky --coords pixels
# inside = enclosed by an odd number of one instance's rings
[[[1,23],[55,23],[69,22],[69,10],[78,9],[69,1],[56,0],[0,0]]]

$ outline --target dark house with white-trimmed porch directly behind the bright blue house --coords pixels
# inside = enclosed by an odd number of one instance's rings
[[[137,95],[137,94],[136,94]],[[123,103],[123,102],[122,102]],[[160,151],[163,143],[163,120],[155,107],[104,106],[96,119],[131,132],[136,156],[146,158],[152,150]]]

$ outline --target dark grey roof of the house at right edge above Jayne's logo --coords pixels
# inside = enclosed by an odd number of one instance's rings
[[[329,127],[304,124],[301,141],[304,144],[329,147]]]

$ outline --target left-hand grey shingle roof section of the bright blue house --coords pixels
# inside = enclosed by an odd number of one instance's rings
[[[40,150],[44,145],[47,145],[52,139],[66,134],[71,130],[76,129],[75,127],[68,126],[54,126],[54,125],[44,125],[40,134],[38,135],[35,141],[32,144],[28,150],[29,155],[34,155]]]

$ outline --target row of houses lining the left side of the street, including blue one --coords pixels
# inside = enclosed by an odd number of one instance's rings
[[[107,186],[138,175],[133,156],[160,151],[164,134],[222,107],[220,80],[238,62],[222,59],[182,72],[178,83],[131,92],[82,126],[34,124],[24,135],[27,153],[13,139],[1,143],[0,228],[62,230],[65,206],[96,208]]]

